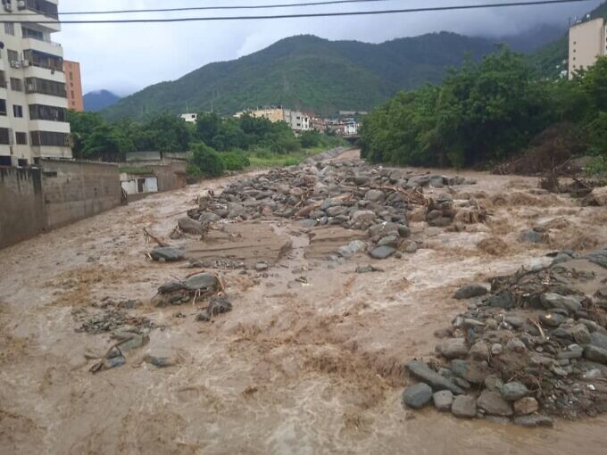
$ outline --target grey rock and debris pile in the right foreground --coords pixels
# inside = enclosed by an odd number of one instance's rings
[[[467,285],[469,309],[437,331],[437,358],[411,360],[412,409],[552,426],[607,411],[607,248],[554,253],[545,268]],[[434,392],[434,393],[430,393]]]

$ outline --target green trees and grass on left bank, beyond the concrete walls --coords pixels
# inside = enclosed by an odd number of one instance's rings
[[[129,152],[191,152],[188,171],[194,177],[242,170],[252,163],[295,164],[308,153],[344,144],[317,131],[297,137],[285,122],[248,115],[224,119],[201,113],[193,125],[172,114],[109,123],[96,112],[72,111],[69,120],[76,158],[124,161]]]

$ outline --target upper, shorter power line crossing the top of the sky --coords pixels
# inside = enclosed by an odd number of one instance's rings
[[[66,11],[63,15],[89,15],[89,14],[127,14],[135,12],[187,12],[204,10],[261,10],[272,8],[299,8],[307,6],[323,6],[328,4],[362,4],[378,2],[394,2],[396,0],[326,0],[321,2],[306,2],[300,4],[241,4],[241,5],[214,5],[214,6],[184,6],[181,8],[150,8],[146,10],[114,10],[114,11]],[[24,15],[36,15],[38,12],[23,12]],[[0,16],[10,16],[10,12],[0,12]]]

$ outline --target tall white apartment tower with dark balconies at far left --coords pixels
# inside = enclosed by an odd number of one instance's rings
[[[57,0],[2,0],[0,12],[0,166],[71,158]]]

